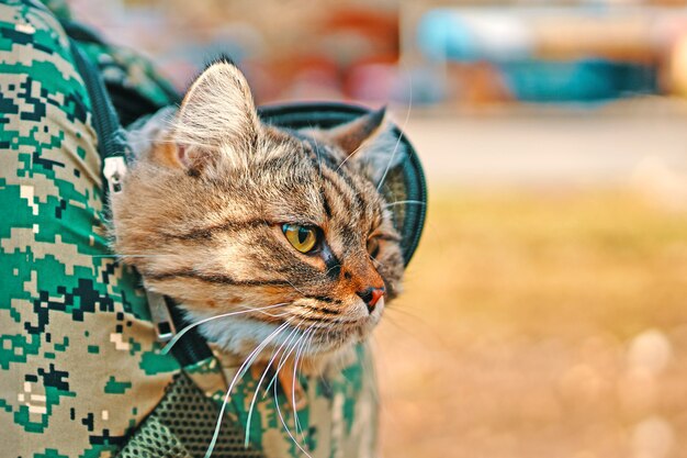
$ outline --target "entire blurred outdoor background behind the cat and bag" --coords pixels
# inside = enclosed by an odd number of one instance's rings
[[[388,104],[430,203],[375,335],[386,457],[687,457],[682,0],[74,0],[183,90]]]

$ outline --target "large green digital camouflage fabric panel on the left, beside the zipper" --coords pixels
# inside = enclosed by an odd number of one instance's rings
[[[0,97],[2,455],[113,456],[178,365],[108,249],[91,101],[38,4],[0,3]]]

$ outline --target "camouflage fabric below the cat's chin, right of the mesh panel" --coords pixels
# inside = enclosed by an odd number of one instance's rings
[[[225,355],[217,358],[222,360],[226,379],[233,380],[238,361]],[[281,393],[279,384],[268,389],[271,379],[268,377],[257,391],[260,377],[249,371],[230,396],[229,415],[248,427],[251,444],[268,457],[304,457],[301,447],[313,458],[371,457],[375,451],[378,421],[372,373],[369,354],[359,346],[348,360],[325,377],[301,377],[299,382],[306,403],[296,411],[296,420],[293,400]],[[255,413],[248,423],[254,398]]]

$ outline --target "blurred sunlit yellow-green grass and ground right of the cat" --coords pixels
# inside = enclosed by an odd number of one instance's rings
[[[687,457],[687,205],[439,190],[376,347],[384,456]]]

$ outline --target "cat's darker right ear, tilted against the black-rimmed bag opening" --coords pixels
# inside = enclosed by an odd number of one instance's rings
[[[360,165],[375,185],[406,158],[399,135],[385,108],[328,131],[329,139],[348,157],[346,160]]]

